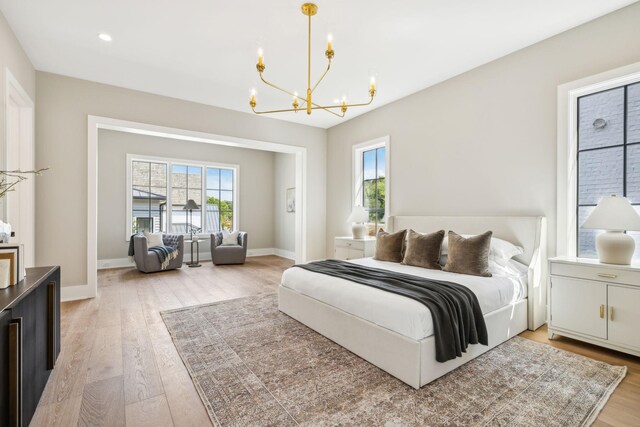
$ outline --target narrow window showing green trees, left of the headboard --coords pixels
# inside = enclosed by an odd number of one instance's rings
[[[354,147],[354,205],[369,213],[369,235],[385,226],[388,214],[388,138]]]

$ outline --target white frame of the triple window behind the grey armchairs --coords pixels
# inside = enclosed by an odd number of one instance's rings
[[[218,162],[202,162],[197,160],[186,160],[186,159],[175,159],[168,157],[157,157],[157,156],[147,156],[142,154],[130,154],[127,153],[127,215],[126,221],[127,225],[125,228],[125,240],[128,242],[131,239],[132,231],[132,221],[133,221],[133,213],[132,213],[132,177],[131,177],[131,163],[134,161],[141,162],[154,162],[154,163],[164,163],[167,165],[167,206],[171,205],[171,189],[172,189],[172,167],[173,165],[179,166],[195,166],[202,168],[202,177],[201,177],[201,187],[202,187],[202,196],[199,201],[200,206],[204,206],[206,204],[207,199],[207,183],[206,183],[206,175],[207,168],[217,168],[217,169],[231,169],[233,170],[233,228],[235,230],[240,230],[240,165],[237,164],[229,164],[229,163],[218,163]],[[171,226],[172,220],[172,209],[167,207],[167,228]],[[203,220],[204,221],[204,220]],[[203,227],[204,228],[204,227]],[[184,236],[187,236],[188,233],[185,233]],[[199,237],[207,237],[209,236],[208,232],[204,230],[198,233]]]

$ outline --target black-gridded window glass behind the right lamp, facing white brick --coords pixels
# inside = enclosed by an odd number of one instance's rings
[[[640,213],[640,83],[581,96],[577,114],[577,255],[595,258],[598,231],[581,225],[598,201],[622,195]]]

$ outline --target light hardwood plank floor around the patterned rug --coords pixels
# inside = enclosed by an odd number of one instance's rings
[[[32,426],[207,426],[207,413],[160,317],[160,311],[274,292],[291,261],[248,258],[145,275],[103,270],[98,297],[62,304],[62,352]],[[546,329],[522,336],[616,365],[629,372],[596,426],[640,426],[640,358]]]

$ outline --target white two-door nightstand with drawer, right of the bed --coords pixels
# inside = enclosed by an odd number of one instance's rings
[[[549,338],[554,334],[640,356],[640,264],[549,260]]]

